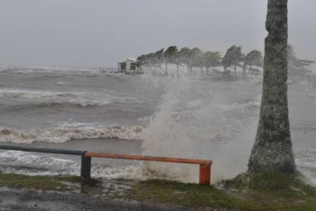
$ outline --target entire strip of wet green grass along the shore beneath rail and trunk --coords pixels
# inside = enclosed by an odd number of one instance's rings
[[[119,184],[126,184],[130,188],[117,188]],[[222,181],[218,184],[221,188],[167,180],[111,181],[107,182],[106,189],[103,185],[97,180],[86,182],[72,176],[31,177],[0,173],[0,186],[11,188],[59,191],[77,188],[88,195],[103,196],[106,193],[107,199],[228,210],[316,210],[315,188],[307,185],[299,175],[242,174],[235,179]]]

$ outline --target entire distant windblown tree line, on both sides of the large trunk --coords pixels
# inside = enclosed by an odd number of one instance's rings
[[[289,75],[300,75],[307,72],[306,66],[310,65],[311,60],[298,60],[295,57],[293,46],[288,45],[289,57]],[[186,67],[188,74],[192,75],[193,68],[200,69],[201,73],[206,69],[209,75],[209,69],[216,71],[216,67],[223,67],[223,76],[232,77],[228,69],[235,72],[234,78],[237,78],[237,67],[243,69],[242,78],[246,78],[246,72],[259,73],[258,68],[263,68],[264,58],[259,50],[251,50],[248,53],[242,52],[242,47],[233,45],[226,51],[224,57],[219,51],[205,51],[199,48],[193,49],[183,47],[180,50],[177,46],[170,46],[166,50],[161,49],[152,53],[140,55],[137,58],[137,66],[141,70],[152,71],[157,74],[157,70],[164,70],[164,74],[169,74],[168,67],[176,66],[176,71],[179,74],[180,67]],[[164,68],[163,68],[164,67]],[[247,71],[248,70],[248,71]]]

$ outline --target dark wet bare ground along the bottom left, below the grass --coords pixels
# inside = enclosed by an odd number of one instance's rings
[[[30,192],[0,188],[0,210],[34,211],[142,211],[142,210],[219,210],[199,209],[194,207],[153,205],[137,202],[108,201],[100,197],[88,197],[85,194],[60,194],[56,192]]]

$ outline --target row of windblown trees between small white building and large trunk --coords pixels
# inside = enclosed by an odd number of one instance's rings
[[[243,62],[243,65],[240,63]],[[177,46],[170,46],[167,50],[157,50],[153,53],[143,54],[137,58],[138,67],[140,69],[163,69],[165,66],[165,74],[168,75],[168,65],[175,65],[179,73],[180,66],[186,66],[188,73],[192,74],[193,68],[200,68],[201,72],[205,68],[209,74],[210,68],[224,68],[224,72],[228,68],[235,69],[237,77],[237,67],[244,69],[243,78],[246,78],[246,69],[252,69],[253,66],[261,67],[263,64],[262,53],[259,50],[252,50],[246,55],[242,52],[240,46],[233,45],[227,51],[224,57],[219,51],[203,52],[199,48],[193,49],[184,47],[178,50]]]

